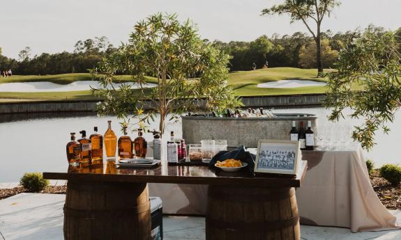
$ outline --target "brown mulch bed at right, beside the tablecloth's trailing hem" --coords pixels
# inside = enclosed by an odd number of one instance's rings
[[[374,170],[370,176],[370,183],[387,209],[401,209],[401,184],[391,185],[386,179],[379,176],[379,170]]]

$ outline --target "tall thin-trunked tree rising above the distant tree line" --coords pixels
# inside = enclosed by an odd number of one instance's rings
[[[291,22],[301,20],[308,31],[312,34],[316,42],[316,62],[317,76],[323,73],[323,64],[321,61],[321,22],[326,15],[330,17],[331,11],[335,6],[339,6],[338,0],[285,0],[284,3],[275,5],[271,8],[262,10],[262,15],[282,15],[291,16]],[[315,22],[316,32],[308,21]]]

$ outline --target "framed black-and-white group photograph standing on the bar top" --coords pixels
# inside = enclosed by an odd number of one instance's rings
[[[296,175],[300,156],[298,141],[259,140],[255,173]]]

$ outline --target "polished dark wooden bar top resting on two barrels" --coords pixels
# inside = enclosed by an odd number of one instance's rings
[[[307,163],[299,164],[295,178],[279,175],[254,176],[245,168],[229,173],[208,166],[167,166],[155,168],[116,168],[113,161],[103,165],[68,168],[64,173],[43,173],[45,179],[64,179],[86,182],[156,182],[169,184],[209,184],[268,187],[299,187],[305,177]]]

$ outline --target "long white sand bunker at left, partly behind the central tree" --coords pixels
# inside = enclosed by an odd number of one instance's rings
[[[139,88],[136,83],[130,84],[131,88]],[[37,81],[31,83],[2,83],[0,84],[0,92],[69,92],[69,91],[84,91],[91,90],[93,88],[100,88],[97,81],[75,81],[66,85],[50,83],[48,81]],[[115,88],[120,88],[121,83],[115,83]],[[147,88],[153,88],[156,84],[149,83],[146,85]]]

